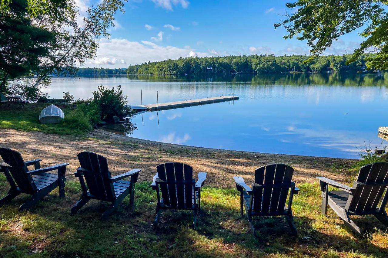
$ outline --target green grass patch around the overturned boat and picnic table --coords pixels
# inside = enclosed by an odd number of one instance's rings
[[[17,129],[21,131],[39,131],[49,134],[80,135],[78,130],[61,124],[41,124],[39,114],[50,103],[27,103],[24,110],[19,105],[0,105],[0,128]],[[65,115],[74,107],[57,105]]]

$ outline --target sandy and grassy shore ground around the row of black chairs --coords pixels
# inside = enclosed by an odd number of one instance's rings
[[[44,142],[44,148],[37,147]],[[12,146],[10,146],[10,144]],[[371,230],[354,236],[333,210],[320,212],[321,196],[316,176],[352,184],[358,171],[354,160],[223,151],[160,144],[94,130],[85,136],[0,131],[0,146],[21,152],[25,160],[42,158],[42,166],[70,163],[66,170],[66,194],[55,189],[31,212],[18,212],[29,196],[21,195],[0,208],[0,251],[4,257],[383,257],[388,234],[371,216],[354,218]],[[128,197],[114,215],[101,222],[106,203],[90,201],[76,215],[71,206],[78,200],[80,183],[73,176],[77,154],[94,151],[107,157],[112,176],[140,168],[135,204]],[[159,163],[185,162],[208,178],[201,193],[201,213],[192,229],[189,212],[163,212],[155,231],[156,193],[150,184]],[[280,217],[255,220],[258,237],[252,237],[248,221],[239,214],[239,193],[232,177],[253,181],[256,167],[286,163],[294,167],[293,180],[300,188],[294,196],[293,213],[298,236],[287,234]],[[0,197],[9,189],[0,174]],[[372,227],[371,227],[372,225]],[[83,239],[85,241],[80,241]],[[189,254],[189,255],[188,255]]]

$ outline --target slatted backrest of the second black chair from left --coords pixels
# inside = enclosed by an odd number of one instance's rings
[[[106,158],[93,152],[81,152],[78,160],[83,169],[83,176],[90,194],[107,201],[114,201],[114,187],[111,183],[111,172],[108,169]]]

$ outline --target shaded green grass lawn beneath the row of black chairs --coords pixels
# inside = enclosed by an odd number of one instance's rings
[[[371,231],[353,237],[329,208],[320,213],[318,184],[300,184],[293,212],[298,237],[288,234],[284,218],[255,220],[259,237],[253,237],[246,217],[239,215],[235,189],[204,187],[197,228],[192,212],[163,212],[159,230],[153,226],[156,193],[150,182],[136,185],[135,205],[128,198],[107,222],[100,220],[107,203],[89,201],[79,214],[70,215],[81,189],[77,181],[66,183],[66,197],[56,189],[32,212],[18,212],[27,195],[0,208],[0,256],[2,257],[386,257],[388,234],[372,217],[356,223]],[[0,174],[0,197],[9,185]]]

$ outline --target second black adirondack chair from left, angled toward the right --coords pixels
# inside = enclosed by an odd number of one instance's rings
[[[102,220],[109,218],[128,194],[130,194],[130,205],[133,204],[135,183],[141,169],[132,169],[124,174],[111,177],[108,162],[101,155],[93,152],[81,152],[78,154],[78,160],[81,166],[78,167],[74,175],[80,179],[82,195],[71,209],[71,214],[77,213],[90,199],[112,203],[102,213]],[[126,177],[131,177],[130,181],[121,180]]]

